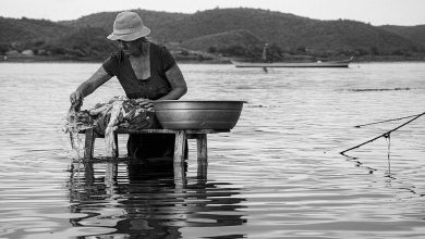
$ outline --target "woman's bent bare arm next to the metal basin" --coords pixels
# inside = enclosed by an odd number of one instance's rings
[[[171,91],[159,100],[178,100],[187,92],[186,81],[177,64],[166,72],[166,76],[171,85]]]

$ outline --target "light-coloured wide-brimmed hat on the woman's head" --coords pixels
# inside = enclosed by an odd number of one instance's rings
[[[149,35],[150,29],[143,25],[141,16],[135,12],[121,12],[113,22],[110,40],[132,41]]]

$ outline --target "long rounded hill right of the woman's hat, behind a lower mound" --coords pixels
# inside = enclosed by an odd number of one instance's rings
[[[377,48],[381,52],[410,49],[415,43],[375,26],[354,21],[317,21],[257,9],[216,9],[197,12],[158,35],[186,41],[205,35],[245,29],[283,50],[305,47],[313,51],[356,51]],[[180,27],[179,27],[180,26]]]

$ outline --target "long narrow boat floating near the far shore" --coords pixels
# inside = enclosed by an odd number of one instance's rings
[[[328,61],[328,62],[276,62],[276,63],[265,63],[265,62],[258,62],[258,63],[248,63],[248,62],[235,62],[232,61],[232,63],[236,67],[262,67],[262,68],[268,68],[268,67],[349,67],[350,62],[353,60],[353,58],[349,60],[343,61]]]

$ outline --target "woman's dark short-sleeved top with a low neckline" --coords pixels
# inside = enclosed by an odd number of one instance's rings
[[[150,77],[137,79],[129,55],[121,50],[114,52],[102,64],[110,76],[117,76],[130,99],[157,100],[171,91],[166,72],[175,65],[175,60],[163,46],[149,42]]]

